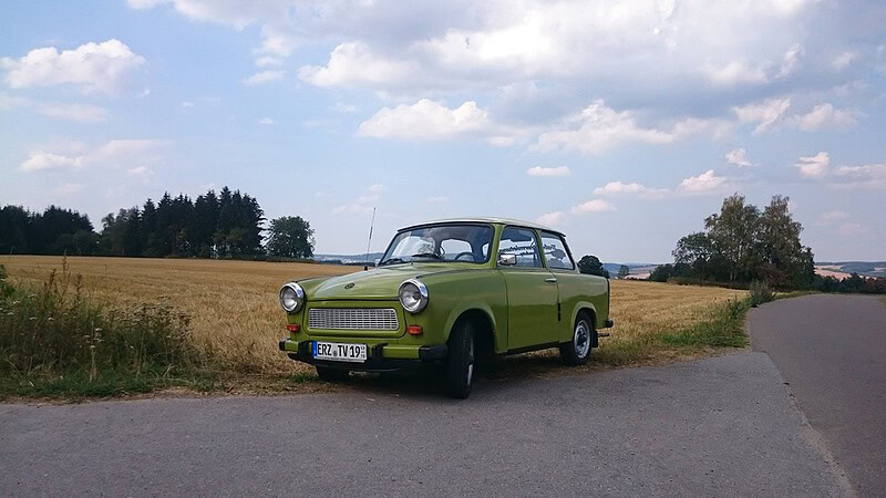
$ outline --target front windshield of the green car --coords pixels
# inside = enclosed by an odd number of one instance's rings
[[[394,236],[379,266],[413,261],[490,260],[492,227],[485,225],[437,225],[403,230]]]

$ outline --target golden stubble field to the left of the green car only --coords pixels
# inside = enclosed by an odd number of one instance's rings
[[[62,258],[0,258],[9,276],[22,283],[42,282]],[[261,261],[213,261],[147,258],[69,257],[70,271],[83,276],[93,299],[113,302],[168,300],[192,317],[197,346],[224,369],[244,374],[293,373],[293,362],[280,354],[286,336],[285,313],[277,291],[289,280],[342,274],[354,267]],[[307,369],[302,369],[307,370]]]

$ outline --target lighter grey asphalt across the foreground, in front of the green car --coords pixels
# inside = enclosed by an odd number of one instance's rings
[[[396,385],[0,405],[0,496],[853,494],[763,353]]]

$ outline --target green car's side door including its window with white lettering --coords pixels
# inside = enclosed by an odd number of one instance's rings
[[[513,264],[502,256],[513,255]],[[498,242],[498,270],[507,292],[508,350],[556,342],[557,283],[544,267],[535,230],[505,227]]]

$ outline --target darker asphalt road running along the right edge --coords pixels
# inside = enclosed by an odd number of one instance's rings
[[[886,305],[862,295],[775,301],[751,313],[749,330],[855,489],[886,494]]]

